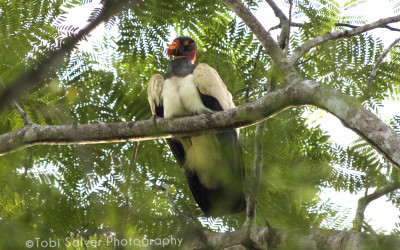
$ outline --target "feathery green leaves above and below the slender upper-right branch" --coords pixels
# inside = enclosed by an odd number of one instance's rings
[[[337,23],[363,25],[365,18],[346,16],[342,13],[364,1],[348,1],[343,6],[329,1],[296,1],[294,17],[306,18],[306,24],[293,32],[291,48],[326,32],[349,29]],[[367,84],[372,68],[383,51],[379,37],[362,34],[356,37],[325,42],[308,52],[298,64],[305,77],[318,79],[334,86],[343,93],[358,97],[363,104],[377,111],[388,94],[398,93],[400,75],[398,60],[388,60],[380,65],[373,84]],[[397,49],[391,51],[394,59]]]

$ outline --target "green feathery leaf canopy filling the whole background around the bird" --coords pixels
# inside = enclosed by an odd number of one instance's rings
[[[350,1],[344,8],[360,2]],[[246,3],[257,8],[257,2]],[[55,39],[75,30],[61,21],[64,10],[76,6],[75,1],[63,0],[0,3],[0,79],[5,85],[54,49]],[[294,16],[305,17],[307,23],[293,29],[289,49],[344,29],[337,22],[364,23],[360,17],[342,16],[343,9],[333,0],[295,1],[294,6]],[[270,89],[270,59],[248,28],[218,1],[140,1],[135,9],[121,13],[114,25],[118,36],[106,36],[94,52],[76,49],[66,56],[57,78],[46,79],[43,87],[18,101],[35,123],[148,119],[147,81],[154,73],[165,74],[170,60],[165,48],[172,34],[190,35],[198,42],[198,62],[218,71],[237,105]],[[382,50],[382,42],[369,34],[326,42],[309,51],[297,70],[375,109],[387,95],[399,91],[398,48],[381,65],[373,86],[365,84]],[[260,225],[267,220],[279,226],[321,227],[326,225],[321,224],[323,219],[338,212],[332,204],[320,202],[322,188],[359,192],[399,177],[363,141],[349,148],[334,145],[319,126],[310,125],[306,110],[291,108],[267,120],[257,197]],[[397,131],[399,124],[398,117],[392,120]],[[2,134],[23,125],[11,106],[0,113]],[[240,135],[248,173],[254,133],[248,127]],[[66,237],[104,239],[113,234],[139,239],[184,237],[192,227],[183,214],[204,223],[164,141],[142,142],[132,157],[134,145],[35,146],[0,157],[0,246],[25,247],[26,240],[34,238],[65,243]],[[161,185],[168,188],[174,206]],[[396,193],[390,198],[399,203]],[[244,219],[243,213],[223,217],[219,228],[235,230]]]

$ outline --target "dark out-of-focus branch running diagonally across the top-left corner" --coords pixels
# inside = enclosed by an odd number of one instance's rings
[[[27,89],[31,87],[38,88],[40,80],[45,77],[53,76],[62,63],[64,56],[71,52],[76,44],[84,39],[100,23],[107,21],[113,15],[119,13],[124,7],[132,4],[135,0],[106,0],[100,14],[90,22],[86,27],[79,30],[72,37],[64,39],[60,48],[50,52],[48,57],[39,64],[33,66],[25,74],[22,74],[13,82],[7,84],[6,88],[0,94],[0,110],[11,99],[16,99]]]

